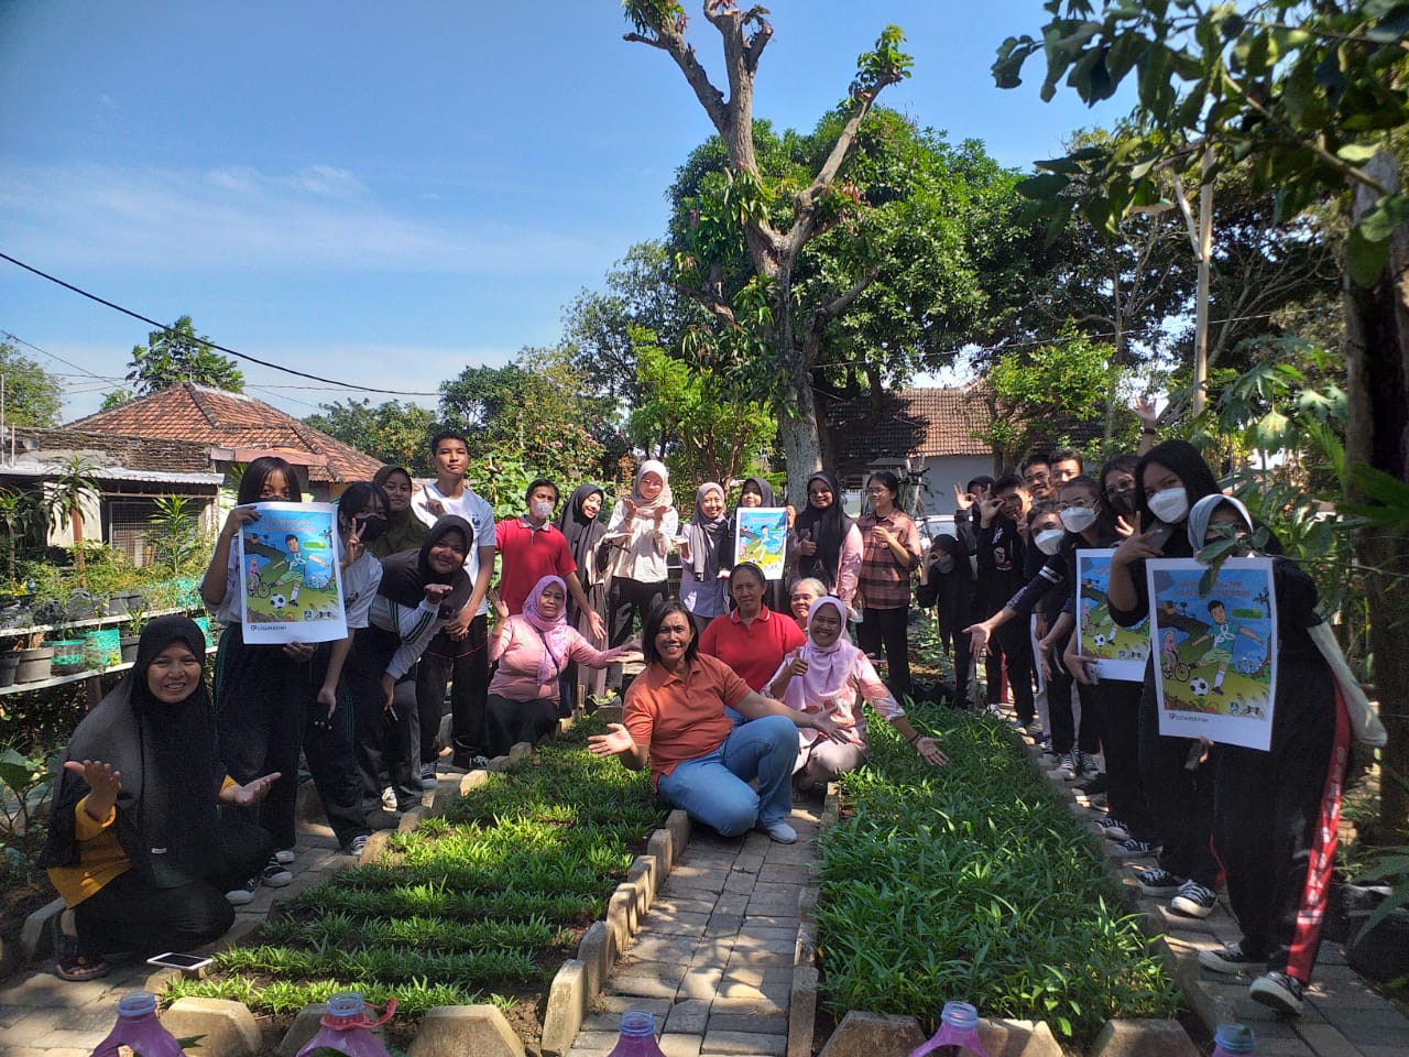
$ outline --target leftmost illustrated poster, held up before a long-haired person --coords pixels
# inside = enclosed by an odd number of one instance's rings
[[[333,503],[255,503],[241,526],[247,643],[328,643],[347,637]]]

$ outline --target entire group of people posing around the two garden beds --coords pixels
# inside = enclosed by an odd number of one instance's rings
[[[1210,516],[1251,533],[1188,444],[1113,458],[1096,476],[1074,451],[1034,454],[1017,474],[955,485],[955,533],[927,551],[893,474],[867,479],[865,512],[852,519],[837,478],[817,472],[806,505],[786,507],[781,579],[735,561],[721,483],[700,485],[681,512],[668,469],[647,459],[604,517],[606,489],[585,483],[561,503],[555,482],[535,479],[524,510],[496,521],[465,481],[465,438],[442,433],[431,448],[434,482],[417,488],[386,466],[340,496],[348,636],[318,645],[244,640],[235,537],[261,503],[300,496],[283,459],[247,468],[201,581],[225,624],[209,692],[199,629],[155,620],[132,672],[69,746],[45,857],[69,905],[61,975],[100,975],[116,950],[206,943],[256,886],[289,884],[300,755],[355,854],[435,782],[447,699],[449,765],[482,767],[540,738],[583,695],[600,699],[607,669],[637,651],[645,668],[623,722],[592,751],[650,767],[664,801],[723,834],[758,826],[795,840],[793,798],[867,757],[862,702],[927,764],[947,762],[900,703],[913,691],[913,596],[938,610],[955,703],[969,699],[971,657],[986,665],[991,706],[1006,682],[1017,723],[1048,737],[1064,774],[1103,789],[1102,826],[1120,854],[1158,854],[1138,884],[1172,895],[1175,912],[1208,913],[1226,877],[1244,939],[1206,964],[1241,971],[1265,960],[1254,996],[1299,1009],[1316,950],[1308,922],[1319,920],[1301,882],[1334,761],[1343,765],[1329,675],[1296,640],[1316,619],[1310,581],[1277,567],[1281,655],[1296,671],[1279,684],[1267,754],[1161,737],[1153,675],[1093,684],[1071,634],[1078,547],[1115,547],[1110,610],[1134,624],[1147,606],[1144,561],[1195,554]],[[782,503],[748,478],[737,506]],[[1277,824],[1250,823],[1250,803]]]

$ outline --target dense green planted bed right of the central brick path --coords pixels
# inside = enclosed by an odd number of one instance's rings
[[[824,1002],[938,1023],[945,1001],[1045,1020],[1076,1044],[1113,1016],[1172,1016],[1178,992],[1081,822],[996,720],[937,705],[930,769],[881,722],[821,839]]]

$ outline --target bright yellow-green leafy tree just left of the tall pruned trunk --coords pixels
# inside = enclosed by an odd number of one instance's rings
[[[766,404],[731,390],[719,375],[671,357],[650,331],[634,330],[633,337],[647,397],[631,412],[628,435],[662,454],[672,479],[716,481],[727,489],[772,443],[776,420]]]

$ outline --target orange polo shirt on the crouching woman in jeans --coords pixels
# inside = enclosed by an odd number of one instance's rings
[[[734,729],[724,706],[751,693],[723,661],[697,654],[682,679],[661,664],[647,667],[626,692],[623,722],[631,740],[651,750],[651,784],[676,764],[713,753]]]

